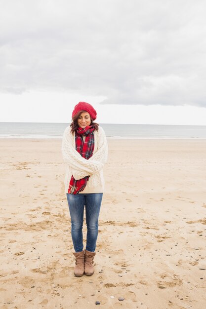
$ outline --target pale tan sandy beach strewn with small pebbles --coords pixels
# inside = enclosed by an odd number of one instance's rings
[[[61,141],[0,140],[1,309],[205,308],[206,140],[108,143],[95,273],[78,278]]]

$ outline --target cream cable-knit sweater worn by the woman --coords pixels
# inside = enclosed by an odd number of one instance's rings
[[[107,162],[108,146],[105,132],[99,126],[94,131],[94,151],[88,159],[84,159],[75,149],[75,133],[70,133],[68,126],[63,134],[62,155],[66,163],[65,193],[68,193],[69,182],[72,177],[76,180],[90,176],[85,189],[81,193],[102,193],[104,192],[103,166]]]

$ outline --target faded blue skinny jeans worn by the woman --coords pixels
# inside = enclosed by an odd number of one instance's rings
[[[103,193],[67,193],[72,223],[72,241],[75,252],[83,250],[83,211],[86,213],[86,250],[94,252],[98,235],[98,218]]]

